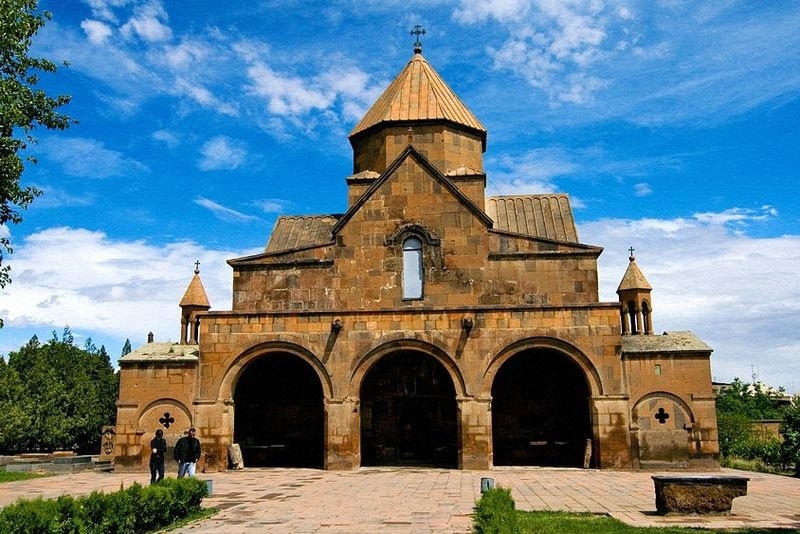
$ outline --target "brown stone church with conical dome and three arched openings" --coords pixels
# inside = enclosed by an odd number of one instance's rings
[[[486,196],[487,131],[419,42],[349,140],[344,213],[229,259],[230,310],[196,268],[179,342],[120,359],[116,469],[190,426],[205,472],[234,444],[245,467],[718,468],[711,348],[656,333],[633,250],[600,302],[567,194]]]

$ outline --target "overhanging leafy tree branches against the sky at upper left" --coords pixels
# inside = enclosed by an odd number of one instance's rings
[[[58,111],[69,95],[52,97],[36,87],[41,73],[55,73],[58,66],[29,55],[33,37],[51,18],[39,11],[38,0],[0,0],[0,226],[22,222],[20,211],[41,194],[20,185],[25,170],[20,154],[36,143],[33,130],[64,130],[73,122]],[[36,162],[31,156],[26,160]],[[11,282],[2,261],[12,252],[10,240],[0,237],[0,287]]]

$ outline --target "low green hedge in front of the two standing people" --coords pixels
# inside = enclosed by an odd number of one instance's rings
[[[114,493],[20,499],[0,510],[0,532],[15,534],[138,534],[157,530],[200,509],[206,483],[167,478],[134,483]]]

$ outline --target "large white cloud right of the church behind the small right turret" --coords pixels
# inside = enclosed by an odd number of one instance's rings
[[[752,238],[736,230],[763,213],[734,218],[608,219],[580,223],[582,242],[604,247],[600,298],[617,300],[628,247],[653,286],[657,332],[691,330],[713,349],[715,379],[750,378],[800,390],[800,236]],[[733,227],[732,227],[733,226]],[[791,382],[798,380],[797,382]]]

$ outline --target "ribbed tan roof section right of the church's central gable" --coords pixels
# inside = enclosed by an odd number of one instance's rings
[[[566,194],[490,197],[486,199],[486,214],[494,221],[495,230],[578,242]]]

